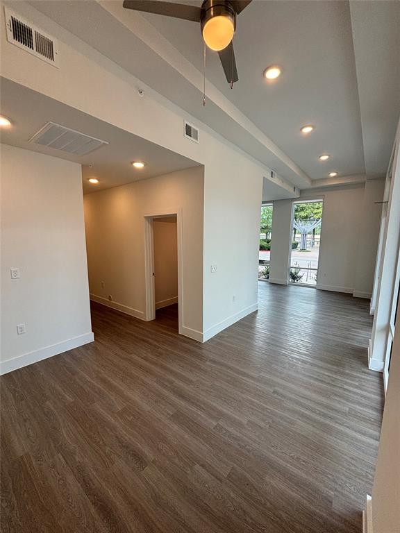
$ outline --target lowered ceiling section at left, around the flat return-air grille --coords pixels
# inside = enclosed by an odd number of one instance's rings
[[[5,78],[0,79],[1,112],[6,117],[12,117],[13,123],[12,128],[1,131],[1,142],[82,164],[84,193],[169,174],[198,164],[44,94]],[[109,144],[87,155],[77,156],[29,143],[28,139],[48,121],[105,140]],[[134,169],[131,165],[134,160],[144,161],[144,169]],[[89,167],[90,164],[92,167]],[[100,183],[90,184],[88,179],[91,177],[98,178]]]

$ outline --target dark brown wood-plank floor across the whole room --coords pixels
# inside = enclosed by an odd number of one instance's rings
[[[381,423],[367,301],[260,282],[206,344],[92,308],[1,379],[5,532],[361,532]]]

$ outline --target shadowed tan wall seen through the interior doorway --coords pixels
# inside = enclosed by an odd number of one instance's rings
[[[156,309],[178,302],[177,231],[176,217],[153,219]]]

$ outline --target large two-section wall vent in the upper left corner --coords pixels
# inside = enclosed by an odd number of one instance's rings
[[[17,13],[4,8],[8,42],[19,46],[33,56],[58,67],[58,42]]]

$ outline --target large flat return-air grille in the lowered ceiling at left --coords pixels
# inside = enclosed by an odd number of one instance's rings
[[[43,128],[29,139],[29,142],[49,146],[49,148],[73,153],[74,155],[86,155],[108,144],[106,141],[65,128],[65,126],[60,126],[60,124],[54,124],[54,122],[47,122]]]

